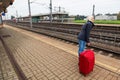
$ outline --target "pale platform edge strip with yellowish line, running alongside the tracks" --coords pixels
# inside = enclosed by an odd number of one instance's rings
[[[17,26],[17,27],[22,27],[22,26]],[[36,30],[36,29],[33,29],[33,28],[31,29],[29,27],[25,27],[25,26],[22,27],[22,28],[26,28],[28,30],[33,30],[33,31]],[[51,37],[48,38],[48,37],[40,35],[40,34],[35,34],[35,33],[32,33],[32,32],[28,32],[28,31],[26,32],[25,30],[21,30],[21,29],[19,29],[19,30],[15,29],[15,30],[17,30],[19,32],[22,32],[22,33],[24,33],[24,34],[26,34],[26,35],[28,35],[32,38],[35,38],[37,40],[40,40],[42,42],[45,42],[47,44],[50,44],[54,47],[57,47],[59,49],[62,49],[64,51],[68,52],[68,53],[71,53],[71,54],[77,56],[76,53],[78,52],[78,47],[75,46],[75,45],[71,45],[70,43],[67,44],[63,41],[59,41],[58,39],[57,40],[53,39],[53,38],[51,39]],[[37,32],[41,32],[41,30],[37,29]],[[53,44],[53,42],[55,44]],[[104,53],[102,51],[97,51],[95,53],[97,53],[97,54],[95,54],[96,65],[102,66],[106,69],[109,69],[110,71],[113,71],[113,72],[116,72],[116,73],[120,74],[120,56],[116,56],[116,55],[114,56],[114,55],[111,55],[109,53]],[[101,54],[105,54],[105,55],[101,55]]]

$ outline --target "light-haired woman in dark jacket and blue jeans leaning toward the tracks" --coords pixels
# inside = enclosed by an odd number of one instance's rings
[[[86,44],[90,46],[90,31],[92,30],[94,26],[94,17],[89,16],[88,21],[82,26],[82,30],[78,35],[78,41],[79,41],[79,50],[78,50],[78,56],[81,52],[84,51]]]

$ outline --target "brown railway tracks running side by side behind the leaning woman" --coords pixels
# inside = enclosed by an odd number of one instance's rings
[[[77,35],[80,32],[80,25],[68,25],[68,24],[41,24],[34,23],[33,28],[29,28],[29,23],[20,22],[17,25],[15,23],[8,23],[12,26],[21,26],[26,30],[41,33],[44,35],[64,39],[70,42],[77,43]],[[23,26],[23,27],[22,27]],[[106,50],[112,53],[120,54],[120,27],[114,26],[97,26],[94,27],[91,32],[91,43],[94,48]]]

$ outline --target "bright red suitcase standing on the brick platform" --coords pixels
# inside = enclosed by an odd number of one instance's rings
[[[79,72],[83,75],[86,76],[93,71],[94,64],[95,57],[92,50],[85,50],[79,55]]]

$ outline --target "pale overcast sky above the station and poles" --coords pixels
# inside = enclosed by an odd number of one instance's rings
[[[15,0],[12,6],[7,8],[8,16],[16,15],[28,16],[28,0]],[[30,0],[32,15],[49,13],[50,0]],[[120,0],[52,0],[53,12],[54,7],[61,6],[70,15],[91,15],[93,4],[95,4],[95,14],[118,13],[120,11]],[[56,8],[58,11],[58,8]]]

